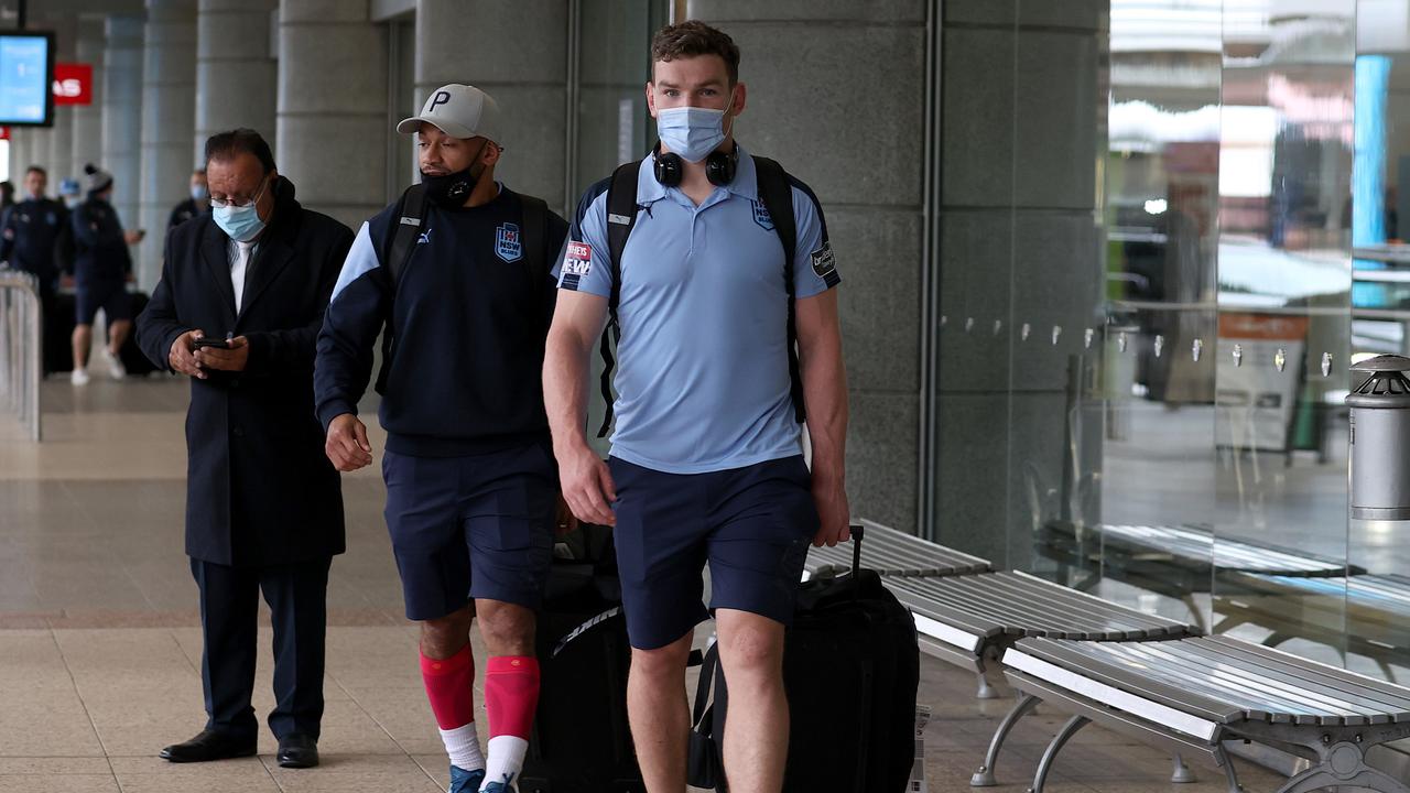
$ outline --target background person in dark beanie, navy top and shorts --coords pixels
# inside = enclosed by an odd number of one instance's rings
[[[133,255],[128,246],[135,246],[147,236],[142,230],[124,231],[117,210],[109,203],[113,198],[113,175],[93,164],[85,165],[89,178],[87,200],[73,210],[73,279],[78,291],[73,326],[73,385],[87,385],[87,357],[93,344],[93,317],[103,309],[111,326],[103,360],[113,380],[127,377],[123,361],[117,357],[133,329],[131,301],[127,296],[127,282],[133,281]]]

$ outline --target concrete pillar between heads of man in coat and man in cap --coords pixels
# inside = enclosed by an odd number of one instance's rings
[[[275,130],[279,172],[306,207],[357,229],[386,206],[386,37],[367,3],[279,4]]]

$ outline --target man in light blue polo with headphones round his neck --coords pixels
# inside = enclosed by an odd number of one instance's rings
[[[627,707],[647,789],[685,790],[684,674],[694,626],[708,617],[708,562],[730,689],[729,786],[780,790],[784,628],[808,543],[847,539],[839,277],[822,210],[797,181],[797,240],[785,260],[759,168],[733,140],[744,109],[733,41],[689,21],[658,32],[651,56],[647,102],[661,145],[639,167],[634,224],[616,268],[609,224],[630,219],[609,212],[611,181],[578,207],[560,264],[544,398],[564,498],[580,519],[616,526],[633,646]],[[588,361],[613,286],[619,396],[603,464],[584,420]],[[812,471],[792,398],[790,292]]]

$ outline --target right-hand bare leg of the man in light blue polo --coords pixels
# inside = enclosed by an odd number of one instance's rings
[[[784,697],[784,626],[721,608],[719,660],[729,686],[725,775],[732,793],[778,793],[788,759],[788,700]]]

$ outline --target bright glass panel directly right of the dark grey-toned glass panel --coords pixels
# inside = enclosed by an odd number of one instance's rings
[[[1101,357],[1069,542],[1098,594],[1207,624],[1220,0],[1112,0],[1110,27]]]

